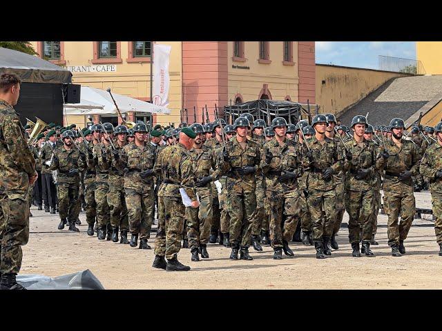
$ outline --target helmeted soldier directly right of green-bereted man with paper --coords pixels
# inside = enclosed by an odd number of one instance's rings
[[[207,243],[209,241],[212,221],[212,197],[211,183],[220,177],[216,151],[202,145],[203,127],[199,123],[190,126],[196,137],[191,154],[192,173],[197,179],[196,192],[200,198],[200,207],[186,207],[187,237],[191,248],[191,260],[200,261],[198,252],[203,259],[209,258]]]

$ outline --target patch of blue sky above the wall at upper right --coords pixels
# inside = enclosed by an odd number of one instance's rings
[[[414,41],[316,41],[316,63],[378,69],[378,55],[416,59]]]

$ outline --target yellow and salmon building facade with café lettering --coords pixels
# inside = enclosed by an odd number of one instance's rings
[[[154,116],[155,123],[177,125],[184,109],[189,123],[195,117],[202,121],[205,108],[213,120],[215,105],[222,114],[229,103],[256,99],[316,103],[314,41],[33,41],[32,46],[40,57],[66,66],[73,83],[150,101],[153,43],[171,46],[171,114]],[[137,119],[142,116],[129,114],[128,120]],[[66,121],[82,127],[88,120]]]

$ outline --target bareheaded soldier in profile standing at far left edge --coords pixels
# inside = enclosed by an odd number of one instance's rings
[[[0,290],[24,290],[16,276],[21,246],[29,239],[28,190],[37,180],[35,159],[13,107],[20,84],[15,74],[0,75]]]

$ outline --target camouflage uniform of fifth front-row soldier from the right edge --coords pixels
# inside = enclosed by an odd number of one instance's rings
[[[270,201],[270,239],[271,247],[283,247],[283,241],[291,241],[300,219],[301,199],[297,179],[281,182],[279,177],[282,171],[302,174],[299,149],[296,143],[285,139],[280,144],[273,137],[267,141],[264,150],[273,154],[271,163],[265,161],[265,152],[262,153],[261,167],[265,172],[266,194]],[[283,219],[285,215],[285,220]]]

